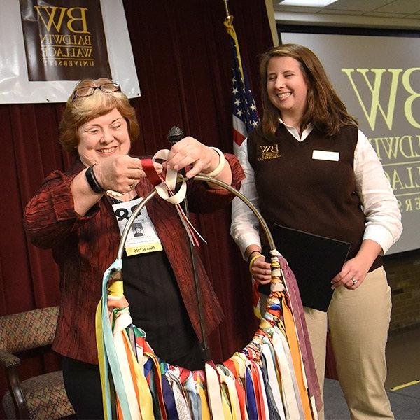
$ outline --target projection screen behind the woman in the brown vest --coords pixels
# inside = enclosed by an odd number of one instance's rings
[[[388,253],[420,248],[420,38],[279,34],[318,55],[384,166],[404,226]]]

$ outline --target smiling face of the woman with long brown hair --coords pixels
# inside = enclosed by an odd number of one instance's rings
[[[267,93],[286,124],[300,123],[307,107],[307,80],[300,62],[292,57],[272,57],[267,66]]]

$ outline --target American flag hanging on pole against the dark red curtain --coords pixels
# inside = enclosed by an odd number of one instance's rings
[[[259,123],[257,107],[241,62],[239,43],[232,24],[232,16],[225,20],[232,51],[232,118],[233,151],[237,155],[239,146]]]

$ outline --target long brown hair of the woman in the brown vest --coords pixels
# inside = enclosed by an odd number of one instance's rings
[[[344,125],[357,125],[332,87],[318,57],[309,48],[298,44],[283,44],[270,48],[260,56],[260,83],[262,99],[261,131],[265,137],[273,138],[279,127],[279,109],[269,100],[267,92],[267,67],[273,57],[292,57],[300,63],[307,80],[307,108],[302,116],[300,128],[309,123],[331,136]]]

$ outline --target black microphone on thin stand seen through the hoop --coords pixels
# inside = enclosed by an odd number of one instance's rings
[[[172,145],[176,144],[177,141],[180,141],[185,136],[183,131],[179,127],[172,127],[171,130],[168,132],[168,140],[169,143]],[[183,176],[185,176],[185,171],[180,171]],[[188,219],[190,218],[190,210],[188,209],[188,200],[187,196],[183,200],[183,207]],[[190,242],[190,256],[191,256],[191,264],[193,266],[193,276],[194,276],[194,286],[195,286],[195,296],[197,298],[197,305],[198,305],[198,318],[200,321],[200,330],[202,333],[202,351],[205,360],[211,360],[210,349],[207,344],[207,337],[206,337],[206,325],[204,324],[204,314],[203,314],[203,307],[202,307],[202,293],[200,288],[200,281],[198,280],[198,273],[197,273],[197,265],[195,260],[195,252],[194,252],[194,245],[191,241]]]

